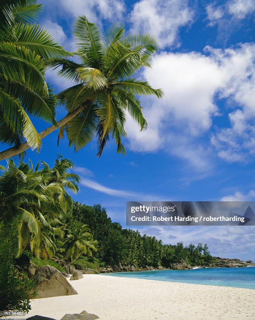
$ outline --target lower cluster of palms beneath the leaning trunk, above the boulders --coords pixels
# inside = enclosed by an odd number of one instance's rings
[[[77,192],[79,182],[76,174],[68,172],[72,168],[72,161],[61,156],[52,168],[45,162],[35,168],[32,163],[17,166],[12,159],[1,168],[0,222],[2,228],[16,225],[16,257],[30,250],[37,258],[56,255],[76,260],[96,251],[97,242],[87,226],[70,219],[72,199],[67,190]]]

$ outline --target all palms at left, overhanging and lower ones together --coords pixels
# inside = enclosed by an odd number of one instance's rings
[[[79,182],[68,172],[72,162],[59,157],[53,168],[41,162],[39,169],[11,157],[22,160],[28,148],[39,152],[42,139],[57,129],[58,140],[66,137],[75,151],[96,137],[98,156],[110,139],[124,154],[128,114],[141,130],[147,128],[138,96],[163,94],[134,78],[141,67],[150,67],[157,42],[151,35],[124,35],[122,25],[102,37],[81,16],[74,28],[77,50],[68,52],[36,23],[41,10],[36,0],[0,4],[0,143],[9,146],[0,150],[0,161],[9,158],[0,173],[0,220],[17,224],[15,256],[29,247],[36,257],[61,258],[64,252],[63,259],[74,260],[96,248],[85,225],[66,223],[72,205],[67,191],[77,192]],[[58,68],[59,76],[75,84],[56,94],[46,82],[47,68]],[[67,111],[59,121],[57,107]],[[38,133],[32,118],[51,125]]]

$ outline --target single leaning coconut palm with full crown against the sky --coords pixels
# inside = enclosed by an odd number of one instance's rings
[[[60,128],[59,139],[64,134],[75,150],[83,148],[97,136],[98,155],[112,137],[117,152],[124,153],[121,138],[125,136],[126,115],[147,128],[137,95],[162,97],[160,89],[153,89],[148,82],[139,81],[134,74],[141,67],[150,67],[157,42],[151,35],[124,36],[123,26],[113,26],[101,40],[98,27],[85,16],[78,18],[75,26],[77,51],[81,63],[68,59],[52,59],[52,67],[62,69],[59,75],[74,80],[76,84],[57,95],[67,115],[56,124],[39,133],[40,139]],[[23,143],[0,152],[0,160],[17,155],[30,148]]]

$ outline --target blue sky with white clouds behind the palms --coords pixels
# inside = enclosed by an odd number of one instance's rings
[[[42,0],[39,22],[67,50],[72,28],[86,15],[100,30],[124,22],[126,32],[155,34],[153,67],[137,75],[162,88],[163,99],[141,98],[148,130],[128,119],[126,156],[113,142],[97,158],[96,143],[74,153],[57,132],[39,155],[53,164],[71,158],[81,176],[74,200],[100,203],[125,227],[126,201],[255,200],[255,44],[253,0]],[[70,86],[50,70],[56,92]],[[58,118],[65,115],[58,109]],[[38,131],[46,124],[37,123]],[[1,147],[4,149],[4,146]],[[213,255],[255,260],[255,227],[140,227],[163,243],[207,243]]]

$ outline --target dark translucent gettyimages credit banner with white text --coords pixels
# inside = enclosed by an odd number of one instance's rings
[[[127,226],[255,226],[255,201],[127,201]]]

